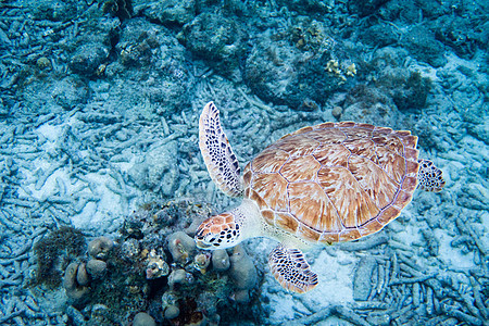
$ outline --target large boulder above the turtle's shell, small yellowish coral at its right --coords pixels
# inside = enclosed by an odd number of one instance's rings
[[[294,109],[304,101],[322,105],[347,80],[341,64],[331,60],[324,26],[315,26],[313,38],[306,37],[306,26],[289,38],[271,40],[266,33],[256,37],[246,61],[244,82],[262,100]],[[303,49],[317,55],[304,55]]]

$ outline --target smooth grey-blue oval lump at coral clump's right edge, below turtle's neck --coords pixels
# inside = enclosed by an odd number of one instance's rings
[[[248,290],[258,283],[256,267],[241,246],[236,246],[230,256],[229,275],[237,289]]]

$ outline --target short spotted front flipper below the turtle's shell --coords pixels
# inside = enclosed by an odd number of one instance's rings
[[[302,251],[278,244],[268,255],[268,265],[278,283],[289,291],[304,293],[317,285]]]

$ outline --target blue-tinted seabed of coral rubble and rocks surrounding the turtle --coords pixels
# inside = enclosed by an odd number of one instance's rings
[[[0,325],[489,325],[489,3],[0,2]],[[214,101],[241,167],[298,128],[411,130],[447,181],[354,242],[212,253],[238,204],[198,146]]]

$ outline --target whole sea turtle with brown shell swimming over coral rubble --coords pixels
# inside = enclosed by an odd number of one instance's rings
[[[410,131],[353,122],[324,123],[281,137],[240,175],[220,111],[200,116],[199,147],[211,178],[242,203],[206,218],[196,233],[202,249],[230,248],[251,237],[280,242],[268,256],[275,278],[306,292],[317,275],[301,249],[355,240],[380,230],[401,213],[416,187],[440,191],[441,171],[418,160]]]

